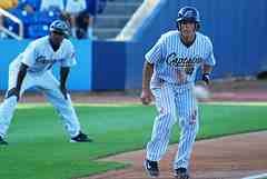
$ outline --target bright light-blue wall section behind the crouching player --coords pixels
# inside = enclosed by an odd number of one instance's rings
[[[73,40],[77,66],[71,69],[68,88],[73,91],[91,90],[91,41]],[[0,40],[0,90],[8,88],[9,63],[27,47],[29,40]],[[56,76],[58,68],[55,69]]]

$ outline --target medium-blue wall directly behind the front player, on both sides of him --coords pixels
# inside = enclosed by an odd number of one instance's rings
[[[140,52],[138,58],[127,59],[129,64],[138,63],[127,71],[127,88],[140,88],[141,76],[138,74],[144,54],[161,33],[175,29],[177,12],[184,6],[195,6],[200,11],[200,31],[214,42],[217,59],[214,78],[255,76],[267,64],[266,0],[161,0],[135,34]]]

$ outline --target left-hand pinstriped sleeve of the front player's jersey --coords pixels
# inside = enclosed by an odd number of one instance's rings
[[[157,63],[162,59],[162,44],[164,36],[161,36],[157,43],[145,54],[149,63]]]

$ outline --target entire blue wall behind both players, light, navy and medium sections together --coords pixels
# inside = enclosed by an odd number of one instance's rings
[[[78,64],[71,70],[69,89],[140,89],[146,51],[161,33],[176,29],[177,12],[184,6],[200,11],[200,31],[214,42],[214,78],[255,76],[267,70],[267,0],[161,0],[138,27],[132,41],[75,40]],[[0,90],[7,88],[9,62],[28,42],[0,40]]]

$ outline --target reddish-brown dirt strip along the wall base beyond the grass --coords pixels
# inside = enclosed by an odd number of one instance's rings
[[[225,80],[215,81],[209,90],[210,101],[267,101],[267,81],[258,80]],[[3,93],[3,91],[1,91]],[[3,95],[0,96],[2,101]],[[72,92],[73,102],[119,103],[139,102],[139,91],[109,91],[109,92]],[[43,102],[41,95],[27,93],[21,102]]]

